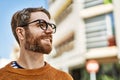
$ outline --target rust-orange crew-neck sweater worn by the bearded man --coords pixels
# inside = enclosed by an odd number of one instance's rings
[[[73,80],[72,77],[46,63],[39,69],[16,69],[11,63],[0,69],[0,80]]]

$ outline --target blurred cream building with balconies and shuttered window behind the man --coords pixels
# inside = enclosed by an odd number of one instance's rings
[[[119,0],[50,0],[49,11],[57,25],[57,32],[54,34],[55,51],[47,60],[79,77],[79,72],[90,60],[98,62],[100,71],[106,64],[119,65],[118,3]],[[75,80],[86,79],[76,77]]]

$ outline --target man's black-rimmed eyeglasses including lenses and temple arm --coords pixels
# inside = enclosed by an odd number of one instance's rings
[[[48,22],[46,22],[46,21],[43,20],[43,19],[37,19],[37,20],[35,20],[35,21],[29,22],[29,23],[27,23],[27,24],[24,24],[24,25],[22,25],[22,26],[27,26],[27,25],[29,25],[29,24],[31,24],[31,23],[34,23],[34,22],[38,22],[39,27],[40,27],[42,30],[47,30],[48,27],[50,26],[50,27],[52,28],[52,30],[53,30],[53,33],[56,32],[56,25],[55,25],[55,24],[52,24],[52,23],[48,23]]]

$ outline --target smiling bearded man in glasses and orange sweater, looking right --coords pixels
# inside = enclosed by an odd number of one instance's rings
[[[72,80],[72,77],[44,61],[52,50],[55,24],[44,8],[26,8],[16,12],[12,32],[20,46],[20,56],[0,70],[0,80]]]

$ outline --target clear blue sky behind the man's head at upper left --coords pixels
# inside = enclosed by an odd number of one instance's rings
[[[16,43],[11,30],[12,15],[23,8],[41,6],[48,9],[47,0],[3,0],[0,2],[0,58],[10,59]]]

